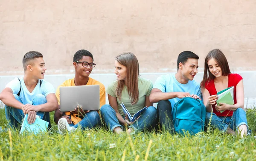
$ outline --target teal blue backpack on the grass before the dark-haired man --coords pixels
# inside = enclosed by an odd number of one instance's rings
[[[175,103],[172,109],[173,124],[176,133],[184,134],[188,131],[195,135],[204,131],[206,107],[199,99],[184,97]]]

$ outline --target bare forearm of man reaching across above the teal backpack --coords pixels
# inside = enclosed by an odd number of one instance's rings
[[[176,92],[154,92],[149,96],[150,102],[159,102],[161,100],[168,100],[177,97]]]

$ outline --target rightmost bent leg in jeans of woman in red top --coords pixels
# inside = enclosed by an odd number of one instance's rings
[[[246,113],[242,108],[238,108],[234,111],[232,119],[230,121],[230,128],[234,131],[237,130],[241,135],[241,138],[247,136],[248,125],[246,119]]]

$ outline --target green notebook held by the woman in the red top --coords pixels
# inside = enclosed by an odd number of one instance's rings
[[[216,101],[217,105],[219,106],[219,103],[226,103],[228,105],[234,105],[234,86],[226,88],[224,90],[221,90],[218,94],[218,99]],[[220,111],[220,113],[223,113],[223,111]]]

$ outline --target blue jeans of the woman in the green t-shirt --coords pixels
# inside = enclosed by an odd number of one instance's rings
[[[103,122],[111,131],[116,127],[123,127],[116,116],[116,111],[110,105],[103,105],[100,108]],[[124,118],[125,116],[123,116]],[[152,130],[157,124],[157,109],[153,106],[147,107],[140,118],[129,127],[137,131]]]

